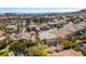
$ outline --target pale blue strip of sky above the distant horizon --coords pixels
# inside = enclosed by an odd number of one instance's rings
[[[76,8],[0,8],[0,13],[50,13],[50,12],[74,12],[82,9]]]

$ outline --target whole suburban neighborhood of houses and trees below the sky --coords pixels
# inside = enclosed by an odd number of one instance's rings
[[[0,55],[84,56],[85,40],[86,10],[72,13],[0,15]]]

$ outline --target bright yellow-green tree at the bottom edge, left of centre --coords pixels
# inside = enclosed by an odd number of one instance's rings
[[[35,47],[28,49],[28,55],[30,56],[45,56],[47,55],[46,46],[38,43]]]

